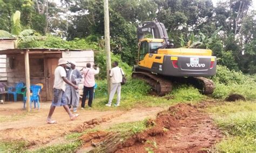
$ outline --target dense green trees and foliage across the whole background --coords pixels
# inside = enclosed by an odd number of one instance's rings
[[[34,29],[41,34],[51,33],[74,40],[72,44],[48,36],[48,43],[36,42],[24,44],[23,47],[41,45],[95,50],[104,47],[103,1],[55,2],[0,0],[0,30],[11,32],[12,14],[19,10],[22,29]],[[200,46],[197,47],[212,49],[219,65],[253,74],[256,72],[256,20],[250,6],[252,0],[226,0],[218,2],[216,6],[211,0],[109,1],[111,51],[127,64],[134,64],[137,58],[138,23],[158,20],[165,24],[175,47],[182,46],[182,41],[188,42],[191,38],[199,40]],[[52,43],[53,40],[56,42]]]

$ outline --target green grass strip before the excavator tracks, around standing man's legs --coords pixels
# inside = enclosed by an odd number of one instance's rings
[[[149,95],[150,86],[145,82],[137,79],[128,80],[127,84],[122,86],[120,107],[105,107],[108,102],[106,92],[106,81],[97,81],[98,89],[96,90],[96,99],[93,100],[93,109],[97,110],[114,110],[114,109],[131,109],[135,107],[157,107],[170,106],[176,103],[194,103],[201,101],[206,96],[201,95],[198,89],[191,86],[178,86],[173,91],[163,97]],[[116,95],[112,105],[116,103]]]

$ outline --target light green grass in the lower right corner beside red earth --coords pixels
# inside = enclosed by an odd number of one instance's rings
[[[225,102],[206,109],[225,138],[216,145],[220,152],[256,151],[256,102]]]

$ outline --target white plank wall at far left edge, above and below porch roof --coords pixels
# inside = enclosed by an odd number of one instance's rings
[[[0,50],[14,48],[14,40],[0,40]],[[0,55],[0,81],[6,81],[6,55]]]

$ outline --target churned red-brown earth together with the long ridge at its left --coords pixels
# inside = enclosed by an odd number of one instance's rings
[[[118,133],[87,133],[80,137],[84,147],[78,152],[207,152],[221,140],[222,134],[210,116],[200,111],[200,107],[206,106],[200,103],[169,107],[159,112],[156,120],[147,121],[151,128],[124,141],[120,141],[123,137]]]

